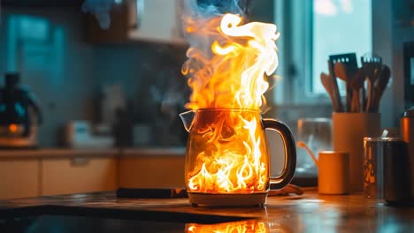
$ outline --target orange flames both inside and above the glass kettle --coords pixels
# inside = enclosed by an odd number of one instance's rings
[[[188,109],[255,109],[265,105],[269,87],[265,75],[278,66],[272,24],[252,22],[226,14],[212,18],[205,26],[188,22],[188,34],[203,35],[210,49],[191,47],[182,73],[192,88]],[[193,139],[201,139],[196,160],[187,164],[189,192],[265,192],[269,169],[265,135],[259,114],[218,112],[210,122],[198,125]],[[258,115],[258,116],[257,116]],[[230,135],[229,137],[223,135]],[[203,147],[201,146],[203,145]]]

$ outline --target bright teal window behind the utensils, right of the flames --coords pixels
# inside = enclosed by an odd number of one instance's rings
[[[359,62],[372,51],[372,0],[275,0],[275,22],[279,104],[327,103],[320,73],[328,72],[328,56],[355,52]]]

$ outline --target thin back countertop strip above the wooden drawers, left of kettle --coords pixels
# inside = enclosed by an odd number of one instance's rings
[[[0,159],[104,156],[184,156],[185,147],[131,147],[104,149],[39,148],[0,150]]]

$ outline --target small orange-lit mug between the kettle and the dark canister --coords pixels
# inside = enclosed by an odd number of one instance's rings
[[[318,158],[318,193],[347,194],[349,192],[349,154],[321,151]]]

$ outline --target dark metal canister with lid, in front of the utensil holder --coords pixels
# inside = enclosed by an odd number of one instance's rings
[[[399,138],[364,138],[364,194],[390,204],[410,200],[410,162]]]

